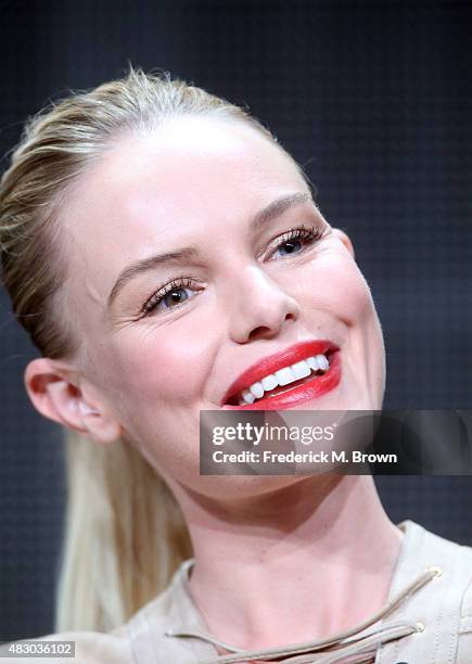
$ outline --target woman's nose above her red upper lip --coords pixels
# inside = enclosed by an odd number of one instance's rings
[[[231,299],[230,336],[239,344],[271,339],[280,332],[285,321],[293,322],[299,316],[296,299],[255,266],[244,270],[244,277],[238,281]]]

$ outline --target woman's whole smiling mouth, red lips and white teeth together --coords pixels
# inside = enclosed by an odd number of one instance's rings
[[[286,409],[330,392],[340,381],[337,346],[330,342],[305,342],[246,370],[227,391],[222,407]]]

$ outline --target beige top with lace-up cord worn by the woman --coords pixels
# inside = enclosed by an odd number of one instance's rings
[[[65,633],[75,659],[7,657],[11,664],[472,664],[472,549],[448,541],[412,521],[405,533],[388,601],[368,621],[330,638],[242,651],[214,639],[194,605],[188,560],[168,588],[122,627],[107,634]],[[20,642],[17,642],[20,643]],[[3,657],[5,654],[3,654]]]

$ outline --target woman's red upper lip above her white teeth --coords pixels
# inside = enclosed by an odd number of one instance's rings
[[[269,373],[275,373],[279,369],[294,365],[311,355],[326,355],[327,353],[335,350],[339,350],[339,347],[333,342],[317,340],[299,342],[284,350],[269,355],[254,365],[251,365],[251,367],[243,371],[241,375],[231,383],[222,397],[221,405],[227,404],[231,397],[248,388],[250,385],[269,375]]]

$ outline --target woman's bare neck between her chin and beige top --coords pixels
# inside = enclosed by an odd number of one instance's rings
[[[298,478],[245,500],[177,497],[194,548],[190,590],[220,640],[323,638],[386,602],[403,535],[370,476]]]

